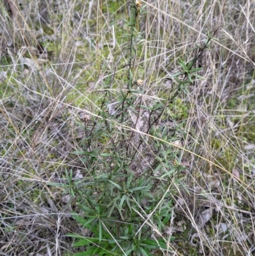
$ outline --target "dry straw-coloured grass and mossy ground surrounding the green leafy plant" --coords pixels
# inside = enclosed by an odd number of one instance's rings
[[[218,39],[201,59],[206,79],[170,113],[185,124],[177,147],[189,193],[175,188],[175,218],[162,236],[177,237],[175,255],[255,255],[255,3],[142,2],[136,79],[145,80],[148,98],[167,97],[164,78],[179,57],[193,57],[194,42],[216,29]],[[80,114],[97,115],[114,72],[112,91],[124,86],[128,3],[0,3],[1,255],[76,252],[65,234],[82,230],[47,183],[61,182],[65,169],[89,173],[73,154],[84,135]]]

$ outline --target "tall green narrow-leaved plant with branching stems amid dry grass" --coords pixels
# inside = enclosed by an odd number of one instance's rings
[[[62,186],[75,200],[78,209],[73,218],[87,230],[85,236],[69,234],[75,237],[74,246],[85,248],[76,256],[152,255],[157,250],[171,251],[174,239],[162,234],[172,216],[171,190],[173,184],[180,186],[178,174],[184,167],[173,144],[179,139],[179,127],[166,125],[164,110],[192,82],[199,70],[193,64],[205,49],[191,63],[180,61],[182,72],[172,76],[179,86],[167,100],[148,97],[144,81],[136,78],[142,39],[138,22],[146,13],[145,6],[133,1],[130,13],[130,20],[124,20],[129,28],[124,34],[128,41],[123,49],[127,59],[122,67],[126,69],[124,86],[115,84],[115,72],[108,75],[95,117],[82,118],[82,150],[76,153],[89,175],[80,180],[66,171],[66,184],[51,183]]]

